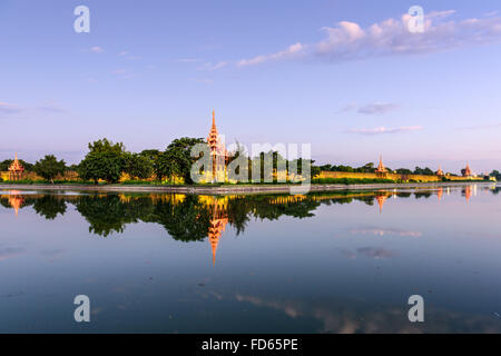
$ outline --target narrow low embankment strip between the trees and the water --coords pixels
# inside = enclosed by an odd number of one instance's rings
[[[461,181],[461,182],[416,182],[416,184],[363,184],[363,185],[338,185],[338,184],[315,184],[310,186],[308,192],[336,191],[336,190],[374,190],[395,188],[440,188],[440,187],[463,187],[471,185],[492,185],[492,181]],[[121,191],[121,192],[174,192],[195,195],[230,195],[230,194],[291,194],[291,188],[299,186],[293,185],[255,185],[255,186],[124,186],[124,185],[2,185],[0,190],[67,190],[67,191]],[[299,192],[298,192],[299,194]]]

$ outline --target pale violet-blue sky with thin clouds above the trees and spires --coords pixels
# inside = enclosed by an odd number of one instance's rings
[[[2,0],[0,159],[164,149],[215,109],[227,141],[317,162],[501,169],[500,61],[499,1]]]

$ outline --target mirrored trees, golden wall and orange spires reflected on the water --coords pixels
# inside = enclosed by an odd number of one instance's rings
[[[446,187],[448,195],[450,187]],[[483,190],[498,194],[500,188],[482,186]],[[477,185],[461,188],[466,202],[477,192]],[[139,221],[160,224],[176,240],[197,241],[208,239],[216,261],[216,251],[226,226],[229,224],[237,235],[245,230],[252,218],[276,220],[281,216],[295,218],[313,217],[313,211],[322,204],[350,204],[355,200],[366,205],[379,205],[380,214],[390,197],[415,199],[430,198],[436,195],[442,199],[443,188],[422,188],[413,192],[405,190],[376,191],[332,191],[310,195],[254,195],[254,196],[194,196],[180,194],[87,194],[68,195],[42,192],[22,195],[17,190],[0,196],[0,204],[19,210],[32,206],[35,211],[46,219],[56,219],[65,215],[67,204],[73,205],[78,212],[89,222],[89,231],[107,237],[121,234],[128,224]],[[367,227],[352,230],[352,234],[393,234],[400,236],[420,236],[420,231],[399,231]],[[379,253],[374,256],[382,255]],[[384,255],[384,254],[383,254]]]

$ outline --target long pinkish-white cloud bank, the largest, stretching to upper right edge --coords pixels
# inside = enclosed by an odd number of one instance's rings
[[[242,59],[237,67],[294,58],[322,59],[326,62],[360,60],[384,56],[418,55],[501,41],[501,17],[450,20],[454,10],[425,14],[424,32],[411,33],[410,14],[362,28],[358,23],[341,21],[324,27],[325,38],[316,43],[295,43],[286,50]]]

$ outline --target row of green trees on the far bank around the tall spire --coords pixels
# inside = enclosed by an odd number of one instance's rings
[[[53,155],[47,155],[42,159],[36,161],[35,165],[20,159],[20,164],[26,171],[33,171],[47,181],[53,182],[58,176],[63,176],[67,171],[78,172],[79,179],[85,181],[92,181],[97,184],[104,180],[109,184],[118,182],[124,174],[127,174],[132,179],[145,180],[151,178],[154,175],[158,181],[170,181],[175,179],[185,184],[193,184],[190,177],[191,165],[197,158],[193,158],[191,148],[197,144],[204,144],[202,138],[183,137],[173,140],[165,150],[146,149],[140,152],[127,151],[122,142],[108,140],[107,138],[88,144],[88,152],[78,165],[67,166],[65,160],[58,160]],[[276,172],[281,167],[285,167],[287,174],[289,167],[297,167],[297,174],[302,174],[302,159],[288,161],[281,156],[279,152],[269,151],[261,152],[255,158],[247,157],[246,152],[237,149],[230,152],[229,162],[237,157],[245,155],[248,165],[238,169],[244,169],[245,175],[248,175],[249,180],[256,180],[252,171],[261,170],[258,180],[277,181],[276,177],[267,177],[271,172]],[[12,164],[11,159],[0,162],[0,171],[7,171]],[[272,165],[272,167],[265,167]],[[314,160],[310,161],[311,177],[315,177],[321,171],[346,171],[346,172],[374,172],[375,166],[369,162],[361,167],[351,167],[343,165],[323,165],[315,166]],[[271,169],[266,169],[271,168]],[[415,167],[414,170],[407,168],[391,169],[400,175],[436,175],[429,167]],[[452,176],[456,176],[450,174]],[[490,176],[501,179],[501,174],[493,170]],[[261,179],[259,179],[261,178]]]

